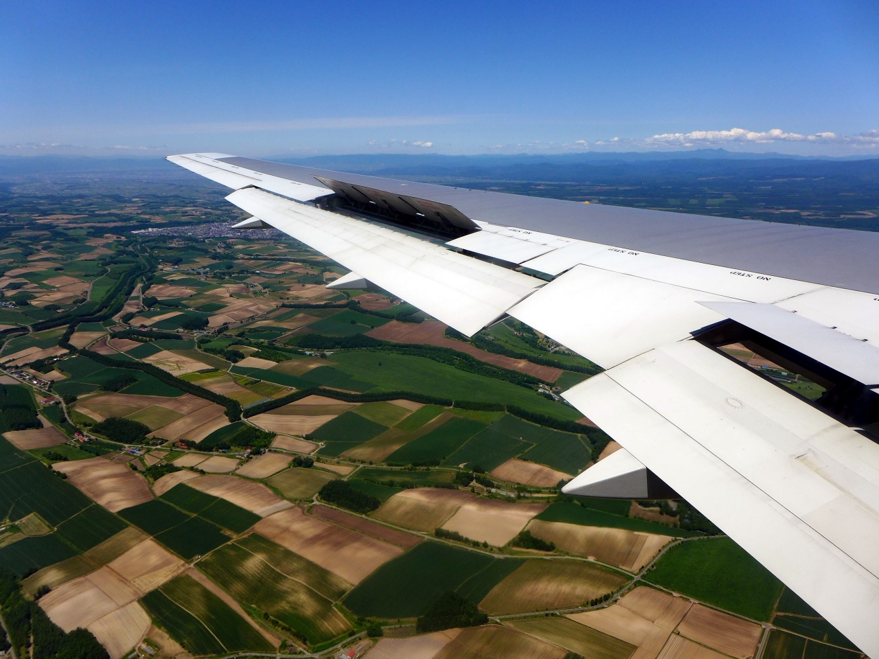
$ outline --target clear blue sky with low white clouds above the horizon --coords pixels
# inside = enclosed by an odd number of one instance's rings
[[[0,153],[879,156],[875,0],[27,2],[2,17]]]

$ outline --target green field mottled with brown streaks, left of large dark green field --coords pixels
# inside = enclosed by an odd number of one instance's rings
[[[351,628],[331,599],[303,583],[300,571],[275,567],[259,547],[245,548],[240,542],[221,547],[200,561],[198,568],[236,600],[280,620],[309,643],[329,641]]]

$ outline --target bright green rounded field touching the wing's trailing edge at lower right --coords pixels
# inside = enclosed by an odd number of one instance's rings
[[[645,578],[755,620],[770,619],[781,595],[781,582],[729,538],[672,547]]]

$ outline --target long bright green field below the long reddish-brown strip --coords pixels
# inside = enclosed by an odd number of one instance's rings
[[[531,389],[468,373],[432,359],[376,351],[340,352],[335,368],[357,380],[374,382],[376,391],[413,391],[463,401],[504,402],[559,419],[578,419],[576,409],[549,401]],[[380,366],[381,363],[381,366]]]

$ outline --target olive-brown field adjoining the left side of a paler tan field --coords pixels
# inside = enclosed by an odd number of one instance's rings
[[[432,532],[444,525],[464,503],[476,499],[454,489],[406,489],[391,496],[373,517],[413,531]]]

